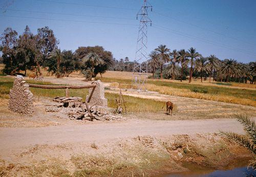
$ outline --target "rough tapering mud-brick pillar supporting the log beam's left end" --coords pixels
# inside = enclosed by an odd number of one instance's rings
[[[10,90],[9,109],[15,113],[32,115],[33,94],[29,91],[29,85],[22,76],[17,76]]]

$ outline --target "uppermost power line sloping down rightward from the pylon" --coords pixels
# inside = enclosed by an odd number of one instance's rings
[[[236,37],[227,36],[227,35],[225,35],[225,34],[216,32],[216,31],[211,30],[211,29],[207,29],[207,28],[200,27],[200,26],[198,26],[198,25],[190,24],[190,23],[187,23],[186,21],[183,21],[183,20],[180,20],[180,19],[177,19],[177,18],[174,18],[174,17],[170,17],[170,16],[167,16],[167,15],[161,14],[161,13],[159,13],[159,12],[155,12],[155,11],[153,11],[153,12],[156,13],[156,14],[158,14],[158,15],[161,15],[161,16],[164,16],[164,17],[167,17],[167,18],[170,18],[170,19],[174,19],[174,20],[180,21],[181,23],[184,23],[184,24],[187,24],[187,25],[190,25],[190,26],[194,26],[194,27],[199,28],[199,29],[202,29],[202,30],[210,31],[210,32],[212,32],[212,33],[215,33],[215,34],[218,34],[218,35],[227,37],[227,38],[231,38],[231,39],[233,39],[233,40],[237,40],[237,41],[240,41],[240,42],[247,43],[248,45],[256,46],[254,43],[250,43],[250,42],[247,42],[247,41],[244,41],[244,40],[240,40],[240,39],[238,39],[238,38],[236,38]]]

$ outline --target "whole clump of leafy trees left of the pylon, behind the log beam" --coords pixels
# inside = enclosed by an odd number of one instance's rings
[[[49,27],[39,28],[37,34],[31,33],[26,26],[23,34],[7,28],[0,37],[0,61],[5,64],[3,70],[8,75],[15,75],[27,70],[42,75],[41,68],[48,75],[68,77],[73,71],[80,71],[91,79],[98,73],[104,73],[113,65],[113,55],[103,47],[79,47],[75,52],[61,51],[58,40]],[[22,73],[19,73],[22,74]]]

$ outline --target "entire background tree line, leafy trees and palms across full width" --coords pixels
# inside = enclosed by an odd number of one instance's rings
[[[37,34],[31,33],[26,26],[23,34],[7,28],[0,37],[0,62],[5,64],[3,70],[8,75],[15,75],[20,71],[34,71],[41,75],[41,68],[48,71],[48,75],[68,77],[73,71],[80,71],[91,79],[106,70],[133,72],[136,61],[128,57],[119,60],[113,58],[103,47],[79,47],[75,52],[61,51],[58,40],[49,27],[39,28]],[[189,50],[170,51],[165,45],[153,50],[147,61],[142,63],[142,69],[153,73],[153,78],[187,79],[201,78],[201,81],[234,81],[254,83],[256,81],[256,62],[242,63],[234,59],[220,60],[215,55],[203,57],[194,48]],[[138,64],[138,63],[137,63]]]

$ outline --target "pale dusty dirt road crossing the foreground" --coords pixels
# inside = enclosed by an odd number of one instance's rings
[[[0,154],[36,144],[108,142],[136,136],[164,137],[177,134],[212,133],[219,130],[243,132],[234,119],[129,120],[117,123],[61,125],[36,128],[0,128]]]

